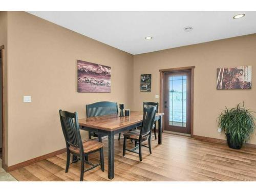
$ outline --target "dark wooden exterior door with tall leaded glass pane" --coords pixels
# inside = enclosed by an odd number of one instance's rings
[[[164,127],[167,131],[191,133],[191,70],[164,73]]]

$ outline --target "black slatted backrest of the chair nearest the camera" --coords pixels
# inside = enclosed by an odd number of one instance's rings
[[[62,132],[66,140],[67,147],[74,146],[80,148],[83,153],[82,139],[79,131],[77,112],[59,110]]]

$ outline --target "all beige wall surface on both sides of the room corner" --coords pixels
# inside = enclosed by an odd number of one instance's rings
[[[8,166],[65,147],[58,109],[82,118],[86,103],[117,101],[141,111],[143,101],[159,101],[159,69],[196,66],[195,135],[224,139],[216,126],[224,106],[245,101],[256,111],[254,87],[216,90],[218,67],[255,68],[255,34],[133,56],[26,12],[0,12],[0,27],[0,44],[8,41]],[[77,93],[77,59],[111,66],[111,93]],[[151,93],[140,92],[144,73],[152,74]],[[23,103],[23,95],[32,102]]]

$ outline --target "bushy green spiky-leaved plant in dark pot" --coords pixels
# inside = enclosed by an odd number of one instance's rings
[[[228,146],[236,150],[250,140],[255,129],[255,117],[252,115],[254,112],[242,104],[237,104],[236,108],[226,108],[217,119],[221,132],[226,134]]]

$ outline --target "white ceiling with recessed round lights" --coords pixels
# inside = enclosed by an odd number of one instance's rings
[[[256,11],[28,12],[134,55],[256,33]]]

